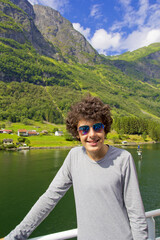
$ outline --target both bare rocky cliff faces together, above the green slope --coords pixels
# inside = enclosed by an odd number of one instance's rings
[[[0,37],[30,42],[39,54],[56,60],[94,64],[101,57],[72,24],[52,8],[27,0],[0,0]],[[9,24],[8,24],[9,23]]]

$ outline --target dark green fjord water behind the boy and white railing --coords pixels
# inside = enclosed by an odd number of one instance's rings
[[[134,157],[145,211],[160,208],[160,144],[125,147]],[[9,233],[49,186],[69,150],[0,151],[0,237]],[[156,218],[156,235],[160,220]],[[71,188],[32,237],[76,228]]]

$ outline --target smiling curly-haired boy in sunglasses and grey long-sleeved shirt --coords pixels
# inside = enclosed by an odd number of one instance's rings
[[[27,239],[73,184],[78,240],[146,240],[147,223],[134,161],[126,150],[104,144],[112,118],[108,105],[87,96],[71,108],[73,148],[47,191],[4,239]]]

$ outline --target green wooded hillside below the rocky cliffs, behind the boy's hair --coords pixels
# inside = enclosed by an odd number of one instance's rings
[[[27,117],[62,122],[71,103],[87,92],[110,104],[113,115],[160,118],[159,89],[113,65],[66,64],[4,38],[0,38],[0,51],[1,119],[15,115],[12,121]],[[47,106],[55,117],[47,116]]]

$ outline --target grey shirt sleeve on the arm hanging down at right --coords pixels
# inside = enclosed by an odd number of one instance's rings
[[[124,203],[130,221],[133,240],[147,240],[147,222],[139,190],[134,160],[128,157],[124,172]]]

